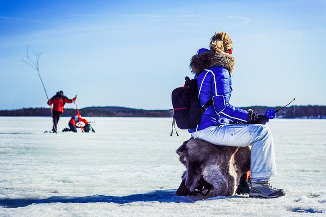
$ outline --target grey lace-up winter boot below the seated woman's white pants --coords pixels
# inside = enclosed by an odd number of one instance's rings
[[[250,198],[278,198],[285,195],[283,189],[273,188],[269,181],[251,183]]]

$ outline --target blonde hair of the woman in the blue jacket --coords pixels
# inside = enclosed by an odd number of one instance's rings
[[[233,44],[230,36],[226,33],[217,32],[211,37],[210,49],[216,53],[229,53]]]

